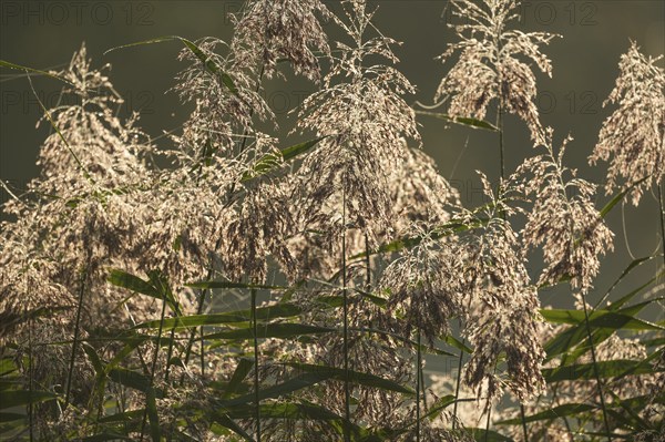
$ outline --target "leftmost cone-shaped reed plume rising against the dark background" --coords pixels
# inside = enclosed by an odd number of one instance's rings
[[[123,100],[104,73],[109,69],[92,69],[83,43],[69,66],[55,73],[68,83],[59,101],[63,104],[49,110],[59,133],[51,133],[39,153],[42,191],[59,194],[89,184],[85,174],[99,185],[113,186],[145,173],[141,158],[152,147],[134,127],[136,115],[117,119]],[[38,124],[48,120],[44,115]]]

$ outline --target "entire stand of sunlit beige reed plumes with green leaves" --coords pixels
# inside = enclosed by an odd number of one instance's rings
[[[542,47],[557,35],[511,29],[516,6],[451,2],[466,24],[438,116],[498,135],[501,179],[479,174],[480,207],[422,151],[399,42],[361,0],[248,0],[229,42],[170,38],[194,109],[170,150],[115,116],[122,97],[84,47],[51,72],[78,101],[43,109],[41,175],[3,207],[2,436],[665,440],[665,327],[637,316],[662,308],[662,257],[630,263],[661,273],[626,296],[587,299],[613,248],[605,215],[659,195],[661,59],[636,43],[621,59],[590,157],[615,194],[598,208],[564,164],[572,138],[556,143],[534,104],[529,62],[551,75]],[[318,89],[290,132],[262,132],[263,80],[287,66]],[[536,152],[512,174],[505,113]],[[284,147],[294,133],[308,141]],[[576,309],[541,308],[555,285]],[[244,309],[219,308],[231,292]],[[457,373],[426,379],[426,357],[444,356]]]

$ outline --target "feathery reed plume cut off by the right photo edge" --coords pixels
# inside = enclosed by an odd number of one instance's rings
[[[642,193],[658,185],[665,173],[665,72],[656,63],[663,59],[646,56],[633,42],[621,56],[616,85],[603,106],[618,107],[605,120],[598,143],[589,157],[592,164],[610,162],[605,189],[634,186],[633,204]]]

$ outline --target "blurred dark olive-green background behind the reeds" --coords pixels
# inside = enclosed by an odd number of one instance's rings
[[[339,2],[327,1],[338,9]],[[417,85],[416,96],[408,97],[431,104],[439,81],[449,65],[434,58],[444,51],[454,34],[447,1],[385,0],[378,6],[376,24],[387,35],[402,41],[397,48],[399,69]],[[237,11],[242,1],[10,1],[0,2],[0,58],[37,69],[63,69],[72,53],[84,41],[94,65],[111,63],[110,76],[125,97],[121,114],[141,113],[141,125],[152,136],[177,129],[190,110],[174,93],[174,75],[184,68],[176,60],[178,43],[167,42],[104,51],[121,44],[176,34],[191,40],[215,35],[227,40],[232,25],[227,18]],[[586,157],[597,140],[604,119],[613,107],[603,109],[618,74],[618,59],[635,40],[651,55],[664,53],[665,2],[633,1],[525,1],[521,7],[518,27],[524,31],[548,31],[563,35],[544,49],[553,60],[553,79],[538,74],[539,107],[542,122],[555,129],[556,146],[571,133],[575,138],[567,150],[566,163],[579,168],[581,176],[602,184],[605,164],[589,166]],[[327,25],[330,29],[331,25]],[[662,65],[662,62],[661,62]],[[28,81],[16,71],[2,69],[0,79],[0,178],[16,187],[38,174],[35,156],[49,133],[42,124],[38,102]],[[48,78],[34,78],[40,99],[53,105],[60,84]],[[288,110],[297,107],[314,85],[287,73],[287,81],[266,81],[266,99],[275,109],[283,134],[294,124]],[[423,148],[432,155],[441,173],[460,191],[467,206],[482,201],[475,169],[484,171],[492,179],[498,176],[499,154],[497,135],[467,127],[447,127],[442,121],[420,120]],[[535,154],[524,125],[515,117],[507,120],[507,169],[512,171],[525,157]],[[283,145],[295,137],[285,137]],[[160,143],[166,142],[162,137]],[[0,189],[0,198],[8,195]],[[608,196],[600,192],[597,205]],[[640,207],[621,207],[608,216],[615,233],[615,251],[603,260],[592,300],[607,290],[634,257],[653,254],[659,246],[659,222],[656,199],[647,194]],[[630,248],[628,246],[630,245]],[[532,273],[538,269],[533,257]],[[640,281],[652,277],[656,264],[652,260],[622,282],[614,294],[622,295]],[[571,306],[570,291],[564,288],[541,294],[543,305]],[[661,317],[657,311],[647,312]]]

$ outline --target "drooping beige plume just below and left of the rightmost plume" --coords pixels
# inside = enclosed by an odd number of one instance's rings
[[[524,179],[523,192],[534,197],[522,237],[529,247],[542,246],[545,268],[539,284],[570,278],[584,294],[598,273],[598,256],[613,248],[613,234],[593,205],[595,186],[563,165],[572,138],[566,137],[555,154],[552,136],[549,129],[546,154],[526,160],[516,172]]]

